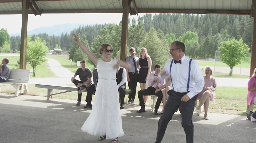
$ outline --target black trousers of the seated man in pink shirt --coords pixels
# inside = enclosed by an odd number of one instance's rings
[[[155,93],[155,91],[156,91],[156,88],[151,87],[151,86],[148,87],[147,89],[138,91],[138,97],[139,97],[141,107],[145,107],[143,95],[155,95],[158,97],[158,99],[156,101],[155,109],[157,110],[159,108],[163,95],[162,95],[161,90],[156,93]]]

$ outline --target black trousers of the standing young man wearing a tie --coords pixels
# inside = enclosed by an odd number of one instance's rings
[[[128,82],[129,89],[132,90],[132,93],[129,93],[129,101],[134,102],[136,96],[136,88],[138,83],[138,73],[128,73],[130,81]]]

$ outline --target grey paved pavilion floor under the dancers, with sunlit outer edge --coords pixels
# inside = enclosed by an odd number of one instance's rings
[[[98,136],[81,131],[91,109],[75,106],[75,100],[0,93],[1,143],[96,143]],[[92,103],[93,104],[93,103]],[[119,143],[155,142],[160,115],[149,107],[126,105],[121,109],[124,136]],[[195,143],[255,143],[255,122],[246,116],[208,113],[209,120],[193,115]],[[101,143],[110,143],[104,140]],[[186,135],[177,112],[169,122],[162,143],[185,143]]]

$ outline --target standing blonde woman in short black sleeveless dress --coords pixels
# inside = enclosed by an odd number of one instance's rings
[[[148,75],[151,71],[151,65],[152,60],[150,56],[148,55],[148,52],[146,48],[140,49],[140,56],[138,60],[138,67],[139,69],[139,76],[138,76],[138,82],[140,83],[140,90],[143,90],[146,88],[146,81],[148,79]],[[147,104],[148,96],[143,96],[145,105]]]

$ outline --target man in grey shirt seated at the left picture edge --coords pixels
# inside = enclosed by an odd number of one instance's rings
[[[10,76],[11,69],[9,65],[9,59],[2,59],[2,64],[0,65],[0,82],[7,82]]]

